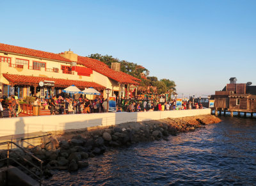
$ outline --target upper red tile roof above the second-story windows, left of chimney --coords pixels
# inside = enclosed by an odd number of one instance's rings
[[[17,46],[13,46],[13,45],[6,45],[3,43],[0,43],[0,51],[12,52],[12,53],[16,53],[16,54],[23,54],[26,56],[33,56],[36,58],[45,58],[45,59],[52,59],[52,60],[57,60],[57,61],[72,62],[67,58],[63,58],[59,54],[54,54],[51,52],[44,52],[41,50],[28,49],[28,48],[24,48],[24,47],[17,47]]]

